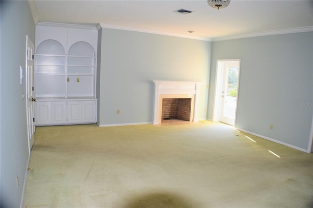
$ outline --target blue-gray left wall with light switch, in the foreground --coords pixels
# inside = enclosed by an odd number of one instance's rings
[[[20,65],[25,69],[26,35],[34,42],[35,24],[28,1],[0,1],[0,174],[1,207],[20,207],[28,160],[26,104]],[[20,186],[17,187],[16,177]]]

